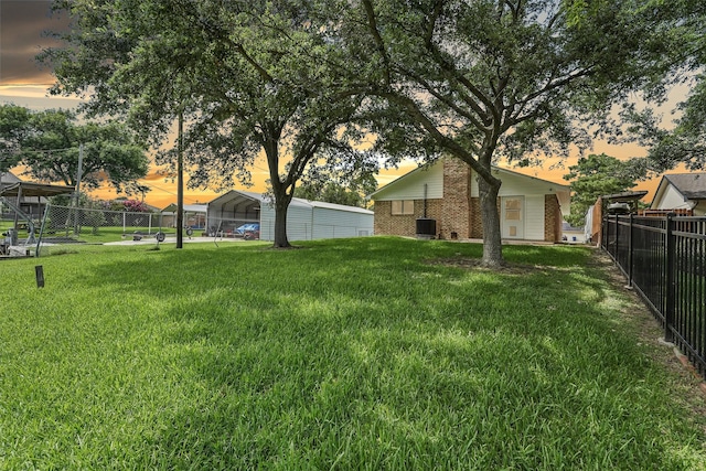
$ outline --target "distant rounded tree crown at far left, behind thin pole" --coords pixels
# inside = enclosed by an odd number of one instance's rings
[[[31,111],[0,106],[0,143],[6,169],[22,164],[40,181],[75,186],[83,144],[82,185],[96,189],[109,182],[117,191],[143,191],[137,182],[149,168],[145,146],[116,122],[81,122],[61,109]]]

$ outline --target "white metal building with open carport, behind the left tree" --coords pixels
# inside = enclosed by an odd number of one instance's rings
[[[232,190],[208,203],[208,232],[234,235],[245,224],[259,224],[259,238],[275,239],[275,207],[266,195]],[[287,238],[373,235],[373,212],[356,206],[293,197],[287,211]]]

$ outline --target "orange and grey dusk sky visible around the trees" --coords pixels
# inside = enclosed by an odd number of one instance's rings
[[[74,108],[78,105],[76,98],[71,97],[49,97],[47,88],[54,78],[45,67],[40,66],[34,56],[42,47],[55,45],[46,36],[47,31],[58,31],[68,28],[66,14],[51,13],[51,1],[44,0],[0,0],[0,104],[12,103],[32,109],[47,108]],[[678,94],[677,94],[678,95]],[[675,96],[675,100],[683,99]],[[603,142],[597,142],[592,149],[593,153],[606,152],[618,158],[643,156],[644,150],[638,147],[617,147]],[[577,156],[564,161],[560,159],[547,159],[542,167],[526,169],[513,169],[521,173],[550,180],[566,184],[563,175],[568,172],[568,167],[576,163]],[[253,169],[253,180],[255,186],[239,190],[264,191],[267,178],[265,163]],[[378,183],[386,184],[396,176],[404,174],[415,168],[414,164],[406,164],[398,170],[386,171],[378,178]],[[672,171],[674,173],[676,171]],[[657,179],[642,183],[635,190],[649,190],[651,193],[646,202],[651,201],[652,192],[656,188]],[[174,185],[165,182],[163,176],[150,173],[142,183],[152,186],[152,191],[146,196],[146,201],[158,207],[163,207],[175,202]],[[115,192],[100,192],[95,194],[98,197],[111,199],[117,195]],[[185,203],[191,204],[196,201],[207,202],[216,196],[213,192],[200,192],[186,190]]]

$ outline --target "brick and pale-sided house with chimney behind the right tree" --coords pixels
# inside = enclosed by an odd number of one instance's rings
[[[492,172],[502,180],[498,201],[502,238],[560,242],[569,186],[496,167]],[[415,236],[420,222],[426,231],[424,220],[434,220],[436,237],[483,237],[477,175],[458,159],[416,169],[371,197],[377,235]]]

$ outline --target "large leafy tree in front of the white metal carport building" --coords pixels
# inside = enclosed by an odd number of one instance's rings
[[[162,142],[178,114],[192,185],[247,182],[264,154],[287,247],[297,181],[327,152],[354,154],[344,128],[361,95],[331,78],[328,41],[307,2],[58,0],[75,18],[68,46],[49,51],[57,93],[92,90],[93,113],[129,115]],[[173,152],[164,158],[173,161]]]

